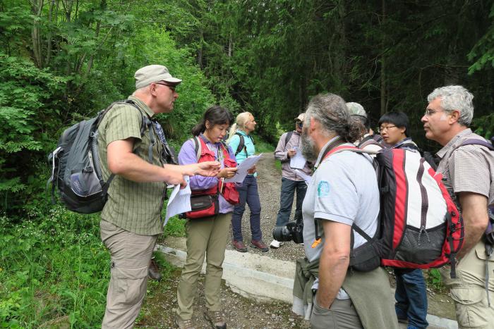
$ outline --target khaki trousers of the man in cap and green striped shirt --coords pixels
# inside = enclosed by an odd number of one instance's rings
[[[132,328],[146,293],[147,270],[157,235],[138,235],[104,220],[100,230],[112,258],[102,329]]]

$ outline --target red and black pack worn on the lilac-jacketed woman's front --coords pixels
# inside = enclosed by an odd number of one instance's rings
[[[195,154],[198,163],[204,161],[215,161],[215,153],[211,151],[202,137],[191,138],[195,144]],[[221,152],[224,166],[236,167],[235,159],[230,157],[228,147],[221,142]],[[186,218],[203,218],[215,216],[219,213],[219,194],[222,194],[229,204],[239,204],[239,192],[235,183],[218,180],[218,184],[208,190],[193,190],[191,195],[191,211],[185,213]]]

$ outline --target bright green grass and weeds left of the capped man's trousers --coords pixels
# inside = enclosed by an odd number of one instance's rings
[[[59,207],[21,225],[0,218],[2,327],[51,327],[64,317],[78,328],[100,324],[109,254],[98,222]]]

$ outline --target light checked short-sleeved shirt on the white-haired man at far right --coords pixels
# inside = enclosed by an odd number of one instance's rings
[[[450,192],[482,194],[488,198],[488,204],[493,204],[494,152],[481,145],[458,148],[466,139],[483,138],[470,129],[459,132],[438,151],[441,161],[437,171],[442,173],[442,182]],[[459,206],[459,202],[456,204]]]

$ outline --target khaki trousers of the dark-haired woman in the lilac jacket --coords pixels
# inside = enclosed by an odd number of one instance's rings
[[[210,311],[220,311],[219,290],[223,275],[224,250],[227,248],[231,213],[188,220],[187,260],[183,267],[176,295],[179,308],[176,314],[182,320],[193,315],[193,302],[200,270],[206,256],[205,297]]]

